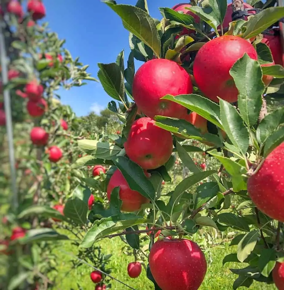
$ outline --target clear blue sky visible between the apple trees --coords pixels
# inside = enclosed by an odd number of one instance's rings
[[[136,0],[117,0],[117,4],[135,5]],[[150,15],[161,19],[158,7],[173,7],[175,0],[148,0]],[[49,27],[66,39],[65,47],[73,58],[80,57],[88,72],[97,78],[97,63],[115,62],[118,53],[125,49],[127,61],[130,52],[128,31],[124,29],[119,16],[100,0],[45,0],[46,17]],[[136,63],[136,69],[138,68]],[[106,108],[112,100],[100,83],[89,82],[69,91],[61,90],[61,102],[69,104],[77,116],[96,113]]]

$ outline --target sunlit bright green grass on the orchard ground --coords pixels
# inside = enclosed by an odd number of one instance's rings
[[[104,239],[99,243],[102,246],[103,252],[106,254],[112,253],[111,262],[109,264],[112,268],[112,276],[123,281],[137,290],[154,290],[152,282],[146,277],[146,272],[143,269],[141,275],[136,279],[131,279],[127,275],[127,265],[133,261],[133,257],[129,257],[121,252],[121,248],[124,243],[119,237]],[[70,242],[64,242],[62,249],[69,253],[76,254],[77,249],[70,246]],[[240,263],[227,263],[222,266],[223,257],[231,253],[234,249],[226,246],[225,249],[212,248],[213,262],[208,265],[207,274],[203,281],[203,284],[199,290],[230,290],[233,289],[232,285],[237,275],[232,274],[229,268],[239,268]],[[78,289],[77,282],[81,285],[84,290],[93,290],[94,284],[90,280],[89,274],[91,268],[87,265],[83,265],[76,270],[72,270],[67,276],[66,272],[70,269],[70,263],[68,263],[69,257],[62,253],[60,248],[54,249],[58,257],[59,267],[58,274],[56,276],[57,285],[53,288],[54,290],[70,290]],[[128,288],[119,282],[112,281],[112,289],[114,290],[127,290]],[[247,289],[240,287],[240,290]],[[249,289],[252,290],[276,290],[274,285],[266,285],[254,281]],[[174,290],[174,289],[173,289]]]

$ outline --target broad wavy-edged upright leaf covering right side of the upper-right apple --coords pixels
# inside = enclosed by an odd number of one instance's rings
[[[258,120],[262,105],[261,96],[265,89],[260,65],[245,53],[232,66],[230,75],[233,77],[239,91],[238,107],[240,115],[247,126],[252,127]]]

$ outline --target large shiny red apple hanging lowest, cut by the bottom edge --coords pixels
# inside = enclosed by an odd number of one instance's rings
[[[149,265],[163,290],[197,290],[207,271],[203,252],[186,239],[158,240],[150,250]]]

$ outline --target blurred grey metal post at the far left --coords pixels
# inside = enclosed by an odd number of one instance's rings
[[[4,22],[2,21],[0,23],[0,59],[1,59],[1,68],[2,68],[2,83],[3,85],[5,85],[8,83],[8,70],[7,70],[7,56],[6,56],[6,49],[5,49],[5,38],[3,35],[3,24]],[[12,125],[10,92],[9,90],[4,90],[3,94],[4,94],[4,104],[5,104],[8,147],[9,147],[11,188],[13,192],[12,208],[14,211],[16,211],[18,208],[18,193],[17,193],[17,185],[16,185],[16,167],[15,167],[15,153],[14,153],[14,144],[13,144],[13,125]]]

